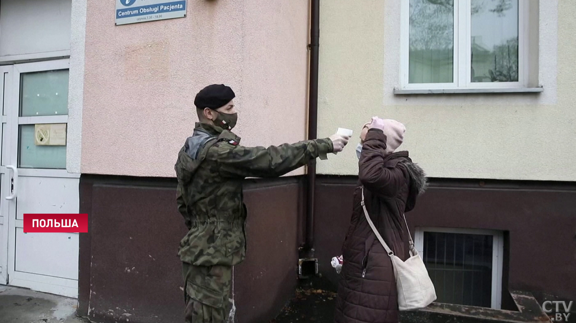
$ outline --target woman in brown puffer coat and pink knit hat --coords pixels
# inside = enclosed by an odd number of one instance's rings
[[[392,261],[370,229],[360,202],[363,186],[366,209],[378,232],[395,255],[406,260],[403,213],[412,210],[425,191],[426,175],[407,151],[394,152],[405,131],[400,122],[376,117],[362,129],[359,183],[342,249],[335,323],[398,322]]]

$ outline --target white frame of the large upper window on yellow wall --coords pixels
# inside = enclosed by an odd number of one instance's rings
[[[401,0],[400,90],[526,89],[529,75],[529,5],[518,0],[518,82],[471,82],[471,0],[454,0],[454,75],[452,83],[408,83],[410,64],[410,0]],[[462,28],[465,26],[465,28]]]

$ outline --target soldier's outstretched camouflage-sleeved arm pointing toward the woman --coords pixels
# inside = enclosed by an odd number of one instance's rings
[[[296,170],[316,157],[327,159],[326,154],[334,151],[334,144],[327,138],[268,148],[223,143],[214,149],[222,176],[276,177]]]

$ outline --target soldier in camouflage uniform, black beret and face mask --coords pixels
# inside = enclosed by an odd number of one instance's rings
[[[347,137],[301,141],[278,147],[242,147],[230,132],[236,125],[234,92],[207,86],[194,104],[200,122],[180,149],[175,165],[177,204],[189,231],[180,241],[186,322],[227,322],[232,266],[246,254],[242,180],[276,177],[327,153],[342,151]]]

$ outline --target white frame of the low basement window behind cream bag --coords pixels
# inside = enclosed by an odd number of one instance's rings
[[[483,234],[492,236],[492,309],[502,308],[502,265],[504,257],[504,234],[497,230],[416,227],[414,244],[418,253],[424,256],[424,232]]]

